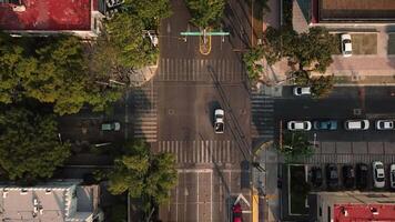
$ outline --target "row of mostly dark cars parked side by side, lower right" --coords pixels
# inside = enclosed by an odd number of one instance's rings
[[[372,163],[373,171],[373,186],[385,186],[385,170],[384,164],[381,161],[374,161]],[[345,164],[342,167],[342,183],[346,189],[366,189],[368,185],[368,165],[365,163],[358,163],[355,167],[352,164]],[[330,190],[338,188],[340,175],[337,165],[328,163],[325,167],[326,186]],[[323,171],[320,167],[313,167],[311,169],[311,182],[313,186],[321,188],[323,184]],[[395,164],[389,167],[389,188],[395,189]]]

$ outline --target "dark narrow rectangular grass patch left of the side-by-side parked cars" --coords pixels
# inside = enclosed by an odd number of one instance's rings
[[[306,208],[306,195],[295,188],[302,185],[301,180],[305,178],[304,165],[290,165],[290,190],[291,190],[291,214],[308,214]]]

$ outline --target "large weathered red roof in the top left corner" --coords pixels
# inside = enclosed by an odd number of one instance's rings
[[[0,3],[0,29],[3,30],[90,30],[91,0],[21,0],[16,4]]]

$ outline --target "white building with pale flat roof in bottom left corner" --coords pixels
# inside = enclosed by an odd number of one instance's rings
[[[31,188],[0,185],[0,220],[4,222],[101,221],[99,185],[68,180]]]

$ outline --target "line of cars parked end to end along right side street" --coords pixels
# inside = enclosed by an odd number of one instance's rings
[[[346,120],[344,122],[345,130],[368,130],[371,123],[368,120]],[[287,129],[291,131],[310,131],[314,130],[337,130],[337,120],[317,120],[313,121],[296,121],[287,122]],[[394,120],[376,120],[376,130],[394,130]]]

